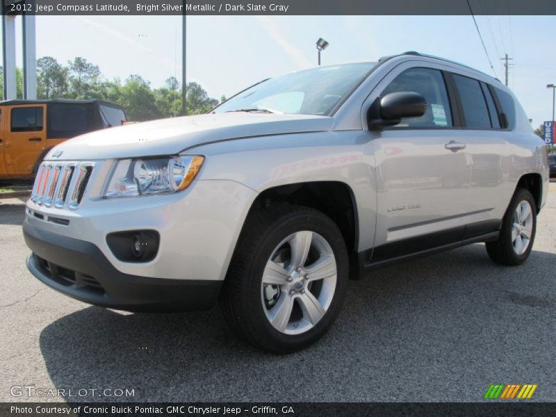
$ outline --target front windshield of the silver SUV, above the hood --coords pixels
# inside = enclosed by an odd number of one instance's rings
[[[329,115],[375,63],[319,67],[256,84],[213,110]]]

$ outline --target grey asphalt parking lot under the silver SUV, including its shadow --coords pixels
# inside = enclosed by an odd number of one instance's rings
[[[477,244],[375,270],[350,282],[322,341],[289,356],[236,340],[218,308],[122,313],[45,287],[25,267],[24,206],[4,200],[0,401],[480,401],[494,383],[538,384],[532,400],[556,401],[550,186],[525,265],[495,265]],[[13,386],[88,393],[14,397]],[[134,395],[90,391],[106,389]]]

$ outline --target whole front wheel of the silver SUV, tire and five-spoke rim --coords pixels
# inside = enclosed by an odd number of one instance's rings
[[[224,285],[224,311],[252,345],[301,350],[336,318],[347,268],[343,236],[326,215],[295,206],[252,213]]]

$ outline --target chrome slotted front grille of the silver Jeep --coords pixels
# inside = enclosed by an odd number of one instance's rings
[[[93,163],[43,162],[35,177],[31,201],[39,206],[75,210],[81,204]]]

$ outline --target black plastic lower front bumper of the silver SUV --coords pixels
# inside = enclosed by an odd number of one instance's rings
[[[56,291],[76,300],[126,311],[190,311],[215,304],[221,280],[161,279],[115,269],[90,242],[23,224],[33,254],[27,268]]]

